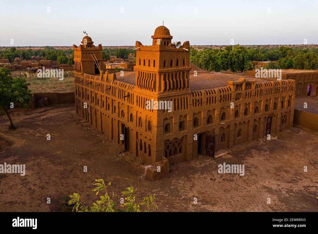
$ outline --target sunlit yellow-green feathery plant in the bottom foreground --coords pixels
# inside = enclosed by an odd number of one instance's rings
[[[77,193],[69,195],[71,199],[69,200],[68,205],[75,204],[73,207],[73,212],[141,212],[142,208],[144,209],[144,212],[149,212],[152,209],[158,209],[158,206],[154,203],[155,194],[150,195],[149,197],[143,197],[142,201],[136,202],[134,195],[136,189],[134,190],[134,188],[131,186],[122,192],[124,200],[126,201],[120,205],[123,209],[115,210],[115,203],[107,193],[107,187],[111,185],[111,182],[105,184],[104,180],[98,179],[95,180],[93,185],[97,186],[96,188],[92,189],[93,192],[96,192],[95,195],[98,195],[99,192],[103,192],[104,195],[100,196],[100,200],[94,202],[92,207],[85,205],[81,195]],[[112,194],[112,197],[114,197],[114,193]]]

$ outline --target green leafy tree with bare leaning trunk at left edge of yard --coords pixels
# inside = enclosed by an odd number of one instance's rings
[[[0,68],[0,107],[9,120],[9,129],[14,129],[11,117],[8,113],[12,103],[18,103],[22,107],[28,108],[28,103],[32,100],[29,83],[21,77],[12,77],[11,71],[7,68]]]

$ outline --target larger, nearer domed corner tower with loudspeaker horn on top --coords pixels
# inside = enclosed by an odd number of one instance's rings
[[[136,41],[136,87],[142,93],[159,96],[166,96],[168,92],[171,95],[189,93],[189,41],[176,48],[165,26],[157,27],[151,38],[152,46],[143,46]],[[158,39],[160,43],[157,43]]]

